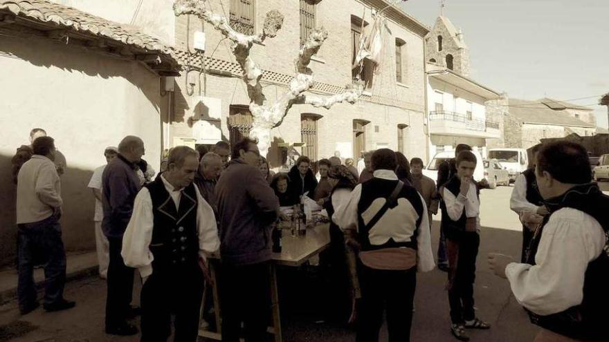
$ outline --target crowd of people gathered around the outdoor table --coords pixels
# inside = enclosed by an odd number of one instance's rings
[[[42,129],[30,133],[30,143],[13,158],[21,314],[39,306],[33,281],[39,263],[44,309],[75,306],[63,296],[65,159]],[[433,180],[423,175],[421,158],[390,149],[362,153],[357,162],[338,153],[318,161],[301,155],[288,172],[275,174],[248,138],[233,146],[218,142],[210,151],[176,146],[157,174],[142,159],[144,145],[129,135],[107,147],[107,164],[88,185],[96,199],[99,272],[107,279],[107,334],[141,330],[141,341],[166,341],[173,330],[175,341],[197,341],[203,288],[217,285],[222,340],[265,341],[271,227],[286,219],[281,207],[305,200],[325,209],[330,221],[330,245],[320,255],[331,283],[327,312],[354,322],[356,341],[378,341],[383,316],[389,341],[409,341],[417,272],[436,264],[447,274],[451,334],[469,341],[469,330],[490,328],[474,306],[484,182],[473,179],[478,160],[470,146],[457,145]],[[521,258],[489,254],[489,266],[543,328],[536,342],[608,341],[609,197],[592,182],[583,146],[555,142],[532,151],[534,162],[517,178],[510,202],[522,222]],[[438,209],[434,260],[430,223]],[[208,263],[217,252],[215,284]],[[136,270],[140,307],[131,305]],[[209,310],[203,307],[203,315]],[[139,314],[140,329],[131,323]]]

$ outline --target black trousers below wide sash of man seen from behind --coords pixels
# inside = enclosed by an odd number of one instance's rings
[[[362,298],[357,303],[355,341],[379,341],[385,310],[389,342],[410,341],[417,267],[407,271],[388,271],[372,269],[360,263],[358,277]]]

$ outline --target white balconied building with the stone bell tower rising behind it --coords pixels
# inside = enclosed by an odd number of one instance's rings
[[[486,154],[487,139],[500,136],[500,123],[487,114],[486,102],[499,97],[469,75],[469,49],[464,35],[440,16],[426,37],[429,157],[469,144]]]

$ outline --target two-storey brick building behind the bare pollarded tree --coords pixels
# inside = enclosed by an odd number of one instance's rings
[[[286,146],[313,160],[340,151],[343,158],[360,151],[388,147],[408,157],[426,158],[426,104],[424,37],[428,28],[385,0],[210,0],[210,8],[230,17],[242,32],[262,30],[269,10],[285,16],[278,36],[255,44],[252,55],[264,70],[264,94],[273,101],[287,90],[293,78],[293,61],[300,42],[311,28],[323,26],[329,37],[310,67],[316,78],[311,93],[334,95],[352,82],[354,44],[362,28],[373,23],[371,10],[388,17],[383,37],[381,65],[365,63],[365,95],[354,105],[337,104],[331,109],[298,104],[281,126],[273,129],[268,158],[271,167],[285,160]],[[195,36],[205,32],[205,51],[194,49]],[[187,71],[176,78],[169,144],[235,142],[248,135],[246,85],[242,71],[230,52],[229,42],[208,23],[194,16],[176,18],[175,46]],[[300,146],[305,143],[305,146]]]

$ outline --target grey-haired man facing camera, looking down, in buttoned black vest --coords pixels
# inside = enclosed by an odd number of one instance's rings
[[[167,341],[175,314],[174,341],[197,341],[206,256],[219,247],[210,205],[192,180],[197,153],[174,147],[167,170],[136,196],[125,231],[122,258],[143,278],[142,339]]]

